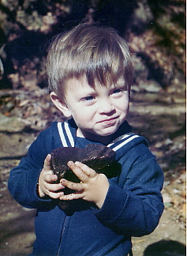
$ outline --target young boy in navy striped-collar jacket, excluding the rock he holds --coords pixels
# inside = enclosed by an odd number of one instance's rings
[[[133,79],[128,47],[111,28],[80,24],[51,43],[47,74],[50,98],[68,121],[41,132],[9,176],[13,198],[37,209],[32,255],[128,255],[131,236],[151,233],[163,213],[163,172],[125,121]],[[107,179],[69,161],[81,182],[57,183],[50,152],[88,144],[113,149],[120,174]],[[63,194],[65,187],[75,193]]]

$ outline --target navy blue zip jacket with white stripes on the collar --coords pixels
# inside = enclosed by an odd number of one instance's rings
[[[109,179],[109,190],[101,209],[82,199],[69,201],[39,198],[39,173],[47,154],[62,146],[84,148],[95,141],[76,137],[77,126],[53,122],[39,134],[28,156],[9,175],[9,191],[21,205],[36,208],[36,242],[32,255],[120,256],[131,250],[131,236],[148,235],[163,213],[163,171],[148,149],[147,141],[131,133],[124,122],[107,146],[116,152],[122,172]],[[99,143],[96,143],[99,144]]]

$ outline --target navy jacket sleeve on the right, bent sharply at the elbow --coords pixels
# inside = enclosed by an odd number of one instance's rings
[[[146,145],[129,150],[121,164],[122,174],[118,181],[110,179],[103,207],[95,214],[114,232],[148,235],[163,213],[163,171]]]

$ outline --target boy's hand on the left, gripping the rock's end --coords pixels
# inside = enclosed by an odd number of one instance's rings
[[[64,193],[62,191],[59,192],[59,190],[62,190],[65,186],[61,183],[54,183],[57,181],[58,177],[50,170],[50,159],[51,155],[48,154],[39,175],[38,194],[40,198],[49,196],[50,198],[57,199],[64,195]]]

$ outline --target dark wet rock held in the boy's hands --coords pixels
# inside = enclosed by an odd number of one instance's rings
[[[118,175],[119,164],[115,160],[115,152],[103,145],[89,144],[85,149],[66,147],[54,149],[51,152],[51,165],[58,179],[68,179],[79,183],[80,179],[66,165],[69,160],[80,161],[97,172],[102,172],[108,178]]]

